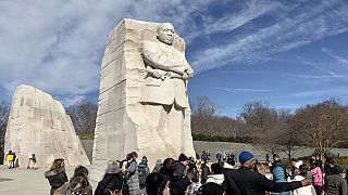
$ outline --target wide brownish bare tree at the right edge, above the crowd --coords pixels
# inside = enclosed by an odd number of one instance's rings
[[[331,147],[348,141],[348,107],[334,99],[308,105],[296,112],[290,128],[301,133],[301,143],[323,157]]]

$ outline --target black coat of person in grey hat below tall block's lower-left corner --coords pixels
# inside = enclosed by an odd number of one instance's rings
[[[119,173],[109,174],[98,183],[95,195],[110,195],[110,191],[123,188],[123,177]],[[110,191],[109,191],[110,190]]]

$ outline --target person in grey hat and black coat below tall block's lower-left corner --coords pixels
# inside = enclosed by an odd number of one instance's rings
[[[120,164],[110,160],[103,179],[98,183],[95,195],[122,195],[124,194],[123,190],[123,174]]]

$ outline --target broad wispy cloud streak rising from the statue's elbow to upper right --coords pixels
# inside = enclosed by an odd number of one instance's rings
[[[343,6],[348,9],[346,4]],[[314,8],[284,5],[278,6],[273,14],[277,14],[279,20],[269,27],[253,29],[254,31],[238,36],[227,44],[202,49],[194,57],[192,66],[198,72],[203,72],[227,64],[262,63],[269,61],[271,54],[309,44],[348,29],[343,23],[333,23],[336,14],[327,12],[323,4]]]

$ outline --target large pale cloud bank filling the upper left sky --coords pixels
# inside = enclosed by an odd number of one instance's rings
[[[0,88],[12,93],[27,83],[62,96],[97,91],[108,34],[123,17],[183,27],[198,6],[183,0],[0,1]]]

